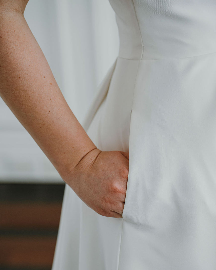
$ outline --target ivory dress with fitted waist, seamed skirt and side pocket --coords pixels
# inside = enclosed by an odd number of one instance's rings
[[[119,56],[84,128],[129,151],[123,218],[66,185],[52,270],[215,270],[216,1],[110,4]]]

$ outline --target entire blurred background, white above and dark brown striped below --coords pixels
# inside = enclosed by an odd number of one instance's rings
[[[82,124],[115,61],[108,0],[29,0],[25,19]],[[64,182],[0,98],[0,270],[51,269]]]

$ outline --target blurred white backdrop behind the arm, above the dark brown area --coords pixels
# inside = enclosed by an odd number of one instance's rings
[[[24,16],[82,124],[97,86],[118,54],[118,30],[109,1],[29,0]],[[62,182],[1,99],[0,181]]]

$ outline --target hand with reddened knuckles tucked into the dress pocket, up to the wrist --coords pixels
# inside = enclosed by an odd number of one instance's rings
[[[66,183],[98,214],[122,218],[129,153],[93,149],[70,173]]]

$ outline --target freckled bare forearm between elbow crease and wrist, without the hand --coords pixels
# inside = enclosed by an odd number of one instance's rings
[[[60,92],[22,12],[13,9],[0,12],[0,95],[61,175],[96,148]]]

